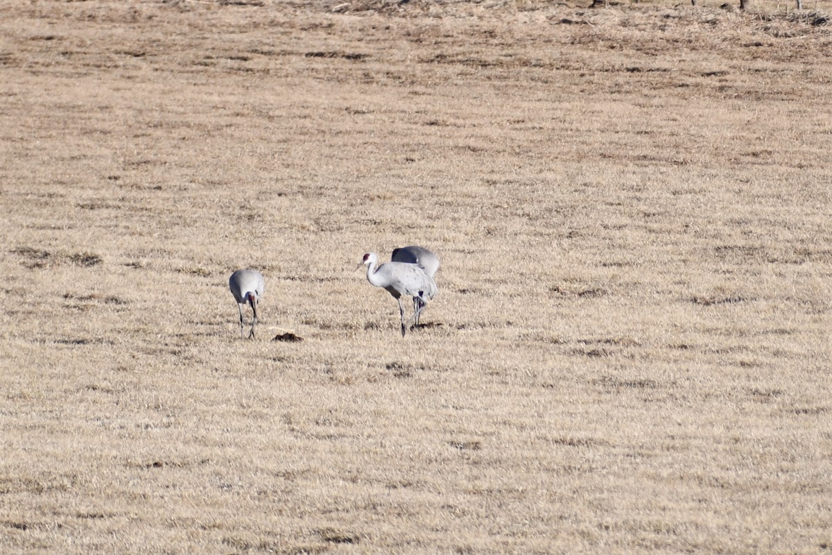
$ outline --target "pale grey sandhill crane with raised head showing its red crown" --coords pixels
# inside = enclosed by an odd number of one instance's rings
[[[405,262],[388,262],[376,267],[379,263],[379,256],[374,252],[364,255],[364,265],[367,266],[367,280],[371,285],[383,287],[395,300],[399,301],[399,315],[402,317],[402,337],[407,331],[410,320],[415,320],[418,312],[414,310],[413,318],[404,322],[404,306],[402,306],[402,295],[414,298],[414,307],[418,299],[419,310],[428,304],[428,300],[436,295],[436,283],[418,265]]]

